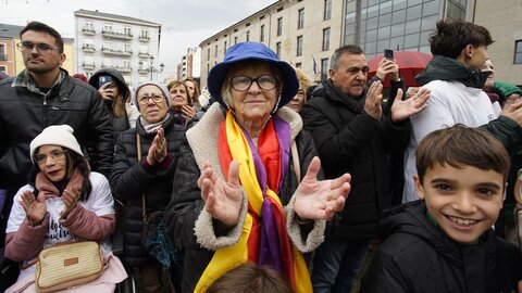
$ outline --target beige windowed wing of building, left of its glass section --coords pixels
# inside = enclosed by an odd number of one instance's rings
[[[327,75],[322,62],[341,44],[343,4],[343,0],[282,0],[207,38],[200,43],[201,87],[226,49],[240,41],[263,42],[281,60],[320,81]]]

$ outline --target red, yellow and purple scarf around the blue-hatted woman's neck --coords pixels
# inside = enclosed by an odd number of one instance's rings
[[[313,291],[304,259],[289,239],[285,212],[277,195],[288,170],[290,128],[282,118],[274,116],[269,120],[256,148],[227,111],[220,126],[220,163],[225,177],[232,160],[239,163],[248,214],[238,243],[214,253],[195,292],[204,291],[226,271],[246,262],[278,270],[294,292]]]

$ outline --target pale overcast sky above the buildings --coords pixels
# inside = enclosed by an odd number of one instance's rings
[[[173,72],[187,48],[266,8],[277,0],[0,0],[0,23],[25,25],[40,21],[62,37],[74,38],[74,14],[98,10],[159,23],[160,56]],[[156,63],[156,61],[154,61]]]

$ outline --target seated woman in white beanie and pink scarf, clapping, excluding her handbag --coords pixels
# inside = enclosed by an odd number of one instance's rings
[[[67,292],[114,292],[127,273],[111,253],[114,201],[105,177],[90,171],[69,125],[44,129],[30,142],[30,157],[28,184],[16,193],[5,230],[5,257],[21,262],[23,269],[7,292],[36,292],[38,254],[76,240],[97,241],[107,268],[97,280]]]

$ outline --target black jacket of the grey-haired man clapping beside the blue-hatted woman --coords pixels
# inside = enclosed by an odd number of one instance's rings
[[[351,190],[341,216],[331,225],[332,240],[376,237],[380,212],[390,204],[387,154],[399,155],[410,133],[409,120],[393,124],[364,113],[365,91],[348,97],[323,81],[302,110],[304,129],[318,149],[326,179],[351,175]]]

